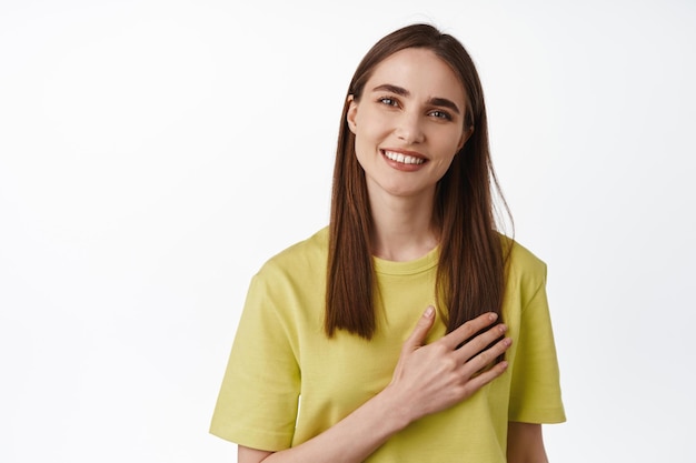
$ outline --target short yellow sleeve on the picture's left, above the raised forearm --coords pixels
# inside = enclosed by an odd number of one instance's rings
[[[261,273],[249,286],[210,433],[266,451],[290,446],[297,420],[300,373],[278,314],[278,298]]]

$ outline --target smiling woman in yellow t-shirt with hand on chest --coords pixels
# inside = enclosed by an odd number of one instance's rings
[[[565,420],[546,268],[495,231],[491,183],[461,44],[381,39],[346,98],[329,227],[249,289],[211,424],[240,463],[546,461],[540,423]]]

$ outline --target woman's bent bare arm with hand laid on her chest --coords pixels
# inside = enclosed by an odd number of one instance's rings
[[[435,320],[428,308],[404,343],[389,385],[340,422],[309,441],[277,453],[239,446],[239,463],[358,463],[409,423],[448,409],[498,378],[507,368],[500,362],[485,370],[510,345],[497,325],[457,349],[496,321],[494,314],[471,320],[440,340],[424,345]]]

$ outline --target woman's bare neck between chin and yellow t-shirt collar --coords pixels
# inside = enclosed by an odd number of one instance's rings
[[[414,198],[370,194],[374,255],[406,262],[437,246],[438,233],[432,227],[434,198],[435,192]]]

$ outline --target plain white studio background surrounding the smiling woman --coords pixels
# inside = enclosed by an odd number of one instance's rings
[[[696,461],[688,0],[3,0],[0,461],[235,461],[207,430],[249,279],[326,223],[350,76],[415,21],[477,62],[549,265],[549,457]]]

